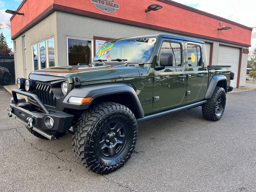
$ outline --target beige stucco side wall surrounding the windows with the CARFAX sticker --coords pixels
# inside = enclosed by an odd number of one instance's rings
[[[54,36],[54,52],[55,52],[55,65],[58,65],[58,51],[57,51],[57,25],[56,25],[56,12],[50,14],[48,17],[25,31],[26,37],[26,58],[27,58],[27,76],[33,71],[32,49],[31,45],[42,41],[43,39]],[[23,35],[22,34],[22,35]],[[16,55],[15,59],[17,65],[17,77],[24,77],[23,67],[23,48],[22,48],[22,35],[14,39],[16,40]]]

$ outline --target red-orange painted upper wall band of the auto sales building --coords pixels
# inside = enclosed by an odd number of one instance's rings
[[[120,10],[115,13],[105,14],[98,10],[90,0],[44,0],[35,1],[27,0],[21,7],[19,12],[22,15],[15,15],[11,20],[11,35],[12,37],[25,27],[30,21],[35,19],[52,3],[73,7],[81,10],[92,11],[102,15],[108,15],[117,18],[123,18],[131,21],[138,21],[151,25],[158,25],[175,30],[186,31],[200,35],[206,35],[214,38],[221,38],[229,41],[240,42],[244,44],[251,43],[251,30],[222,22],[223,26],[230,26],[231,30],[218,31],[221,20],[207,17],[205,15],[195,13],[177,6],[163,3],[157,0],[117,0],[120,4]],[[161,10],[150,11],[145,13],[147,6],[157,3],[163,6]]]

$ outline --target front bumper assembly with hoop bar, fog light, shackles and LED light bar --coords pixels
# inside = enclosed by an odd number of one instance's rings
[[[24,98],[17,97],[17,93],[34,99],[37,105],[26,102]],[[40,98],[26,91],[13,89],[8,116],[15,115],[15,119],[48,139],[54,139],[55,133],[66,132],[74,115],[63,111],[49,111]],[[40,107],[40,109],[39,109]]]

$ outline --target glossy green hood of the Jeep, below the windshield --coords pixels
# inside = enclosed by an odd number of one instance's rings
[[[33,71],[31,74],[51,75],[65,77],[69,82],[73,82],[73,77],[78,76],[81,82],[98,81],[104,79],[118,79],[126,77],[139,77],[139,71],[136,67],[127,67],[123,65],[108,65],[108,66],[58,66],[49,67]]]

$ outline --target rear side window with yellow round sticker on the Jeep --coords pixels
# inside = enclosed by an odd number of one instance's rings
[[[201,47],[198,45],[187,45],[187,64],[190,67],[202,66]]]

